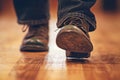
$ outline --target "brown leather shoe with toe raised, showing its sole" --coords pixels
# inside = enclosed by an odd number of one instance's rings
[[[89,25],[84,19],[73,19],[62,27],[56,43],[58,47],[66,50],[67,57],[88,58],[93,50],[88,31]]]

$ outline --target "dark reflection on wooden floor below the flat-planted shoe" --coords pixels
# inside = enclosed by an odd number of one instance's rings
[[[11,71],[11,80],[35,80],[41,65],[43,65],[47,52],[22,53]]]

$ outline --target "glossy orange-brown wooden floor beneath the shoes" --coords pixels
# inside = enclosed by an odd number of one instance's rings
[[[95,13],[88,59],[66,60],[55,44],[56,20],[50,21],[49,52],[20,52],[25,35],[15,17],[0,16],[0,80],[120,80],[120,15]]]

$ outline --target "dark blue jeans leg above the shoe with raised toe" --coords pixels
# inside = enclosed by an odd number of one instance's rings
[[[89,24],[89,31],[96,29],[96,20],[90,8],[96,0],[58,0],[58,27],[64,26],[68,18],[83,18]]]

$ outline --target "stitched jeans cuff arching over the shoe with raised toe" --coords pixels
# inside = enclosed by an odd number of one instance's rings
[[[94,17],[92,17],[92,18],[88,17],[87,15],[85,15],[83,13],[68,13],[67,15],[63,16],[61,19],[58,19],[58,21],[57,21],[58,28],[65,26],[64,22],[70,17],[85,19],[90,25],[89,31],[94,31],[96,29],[96,20],[94,19]]]

